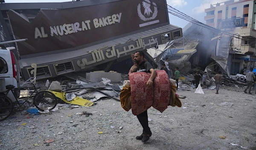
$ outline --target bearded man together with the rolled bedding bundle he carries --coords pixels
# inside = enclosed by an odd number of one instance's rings
[[[125,111],[131,109],[140,121],[143,133],[136,139],[144,143],[152,135],[147,110],[153,107],[163,113],[168,106],[181,107],[182,104],[176,94],[175,82],[171,82],[173,79],[169,79],[166,71],[155,71],[142,51],[131,54],[131,58],[134,65],[129,71],[129,80],[124,82],[120,102]]]

